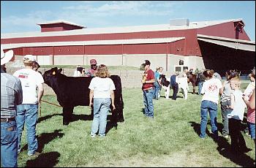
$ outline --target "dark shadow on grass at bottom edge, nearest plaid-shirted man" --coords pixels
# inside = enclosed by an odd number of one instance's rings
[[[55,167],[59,156],[59,152],[42,153],[36,159],[26,161],[26,167]]]

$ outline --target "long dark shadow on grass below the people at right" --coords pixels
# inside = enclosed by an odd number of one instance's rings
[[[200,123],[195,123],[194,121],[189,121],[189,123],[193,127],[194,131],[197,133],[198,138],[200,138]],[[208,129],[206,129],[206,134],[208,135],[208,137],[211,137],[214,140],[214,142],[217,143],[217,150],[219,151],[219,154],[221,154],[227,159],[230,159],[230,161],[233,161],[235,164],[238,164],[241,167],[255,167],[255,161],[251,157],[247,156],[246,153],[233,152],[231,150],[230,143],[227,142],[227,140],[224,137],[219,136],[218,139],[214,139],[213,134],[211,134],[208,131]]]

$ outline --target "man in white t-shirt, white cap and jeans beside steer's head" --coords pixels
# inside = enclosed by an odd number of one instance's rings
[[[21,150],[21,137],[26,122],[28,137],[28,156],[38,156],[38,142],[36,137],[37,110],[41,101],[44,80],[39,72],[33,70],[34,56],[26,55],[23,58],[24,69],[13,75],[20,79],[23,90],[23,102],[17,106],[18,153]],[[38,88],[38,91],[37,91]]]

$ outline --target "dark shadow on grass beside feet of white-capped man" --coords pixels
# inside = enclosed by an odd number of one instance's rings
[[[63,133],[60,133],[60,131],[62,131],[62,129],[58,129],[55,130],[52,133],[42,133],[39,136],[37,136],[37,142],[38,142],[38,148],[37,151],[39,153],[42,152],[42,149],[45,147],[46,144],[48,144],[50,141],[56,139],[56,137],[61,138],[63,137]],[[21,148],[21,152],[23,150],[28,150],[28,144],[26,144],[25,146],[23,146],[23,148]]]

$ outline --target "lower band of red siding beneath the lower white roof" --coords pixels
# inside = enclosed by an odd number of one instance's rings
[[[185,52],[186,40],[161,44],[135,45],[89,45],[89,46],[59,46],[59,47],[23,47],[20,55],[115,55],[115,54],[176,54],[187,55]],[[54,48],[54,49],[53,49]],[[17,53],[15,53],[17,54]],[[199,55],[198,55],[199,56]]]

